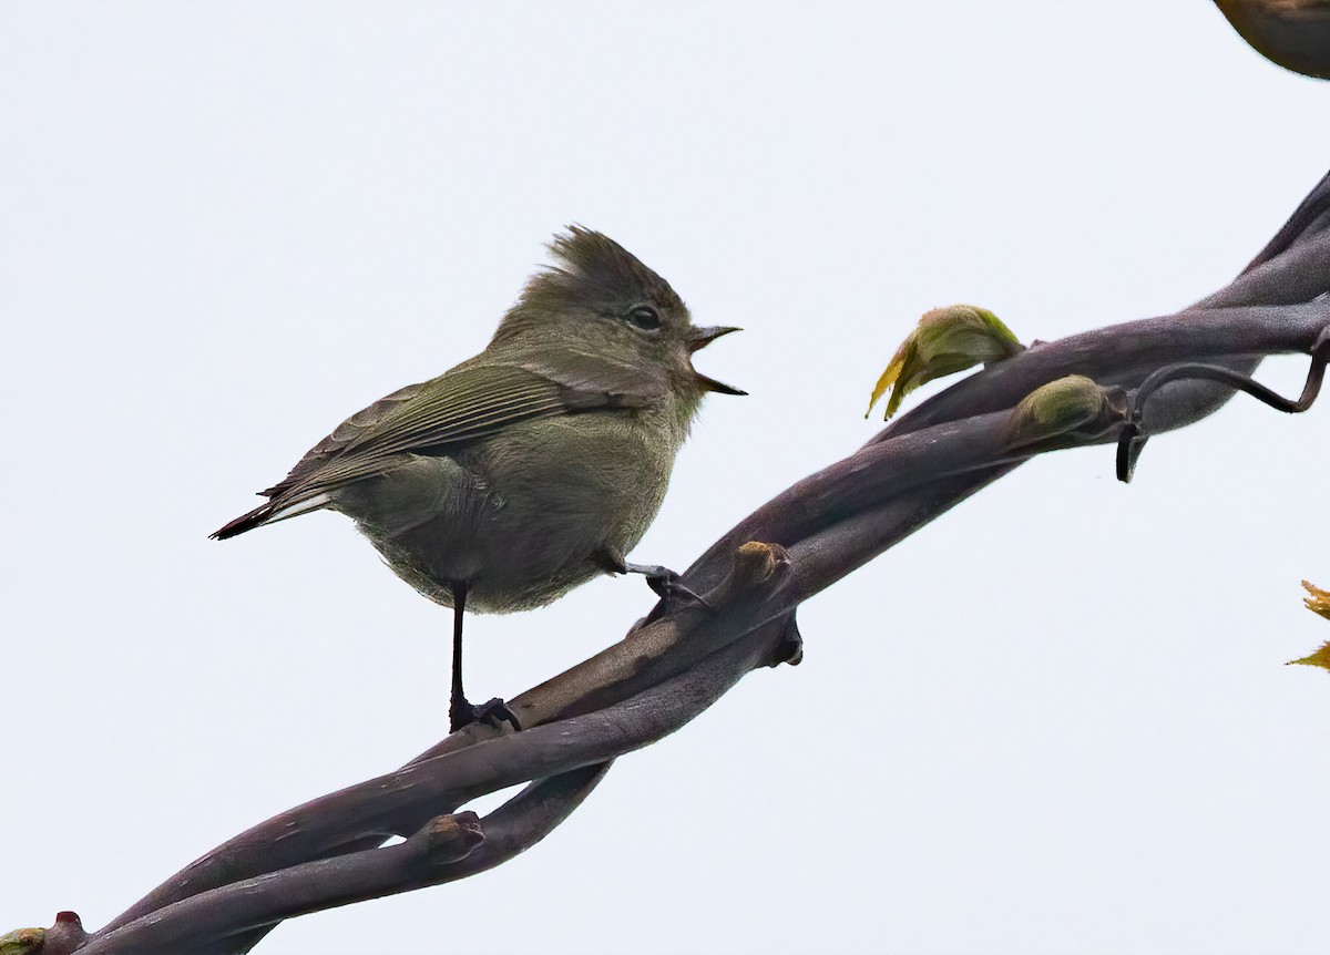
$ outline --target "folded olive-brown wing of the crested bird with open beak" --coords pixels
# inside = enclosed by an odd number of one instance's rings
[[[668,388],[664,371],[644,375],[604,359],[560,358],[547,351],[527,360],[463,366],[380,398],[342,422],[262,493],[313,496],[383,474],[406,451],[460,444],[536,418],[648,407]]]

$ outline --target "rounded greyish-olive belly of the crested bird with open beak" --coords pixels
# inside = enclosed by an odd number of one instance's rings
[[[366,483],[359,507],[343,499],[338,509],[436,603],[451,607],[460,581],[468,611],[543,607],[608,571],[606,553],[637,544],[673,458],[644,454],[602,422],[544,426],[511,428],[456,459],[419,456]]]

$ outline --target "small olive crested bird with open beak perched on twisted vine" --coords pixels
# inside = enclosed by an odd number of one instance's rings
[[[674,456],[708,391],[742,395],[693,368],[732,327],[700,329],[660,275],[613,239],[572,226],[557,265],[528,279],[488,347],[443,375],[356,412],[261,493],[262,507],[211,536],[310,511],[351,517],[388,567],[454,609],[456,730],[516,718],[467,702],[464,609],[543,607],[629,564],[656,517]]]

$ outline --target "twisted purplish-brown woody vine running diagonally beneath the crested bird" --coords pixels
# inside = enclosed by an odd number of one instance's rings
[[[1246,374],[1265,355],[1311,352],[1330,326],[1330,301],[1313,301],[1330,291],[1327,184],[1242,275],[1192,309],[1036,344],[763,504],[682,575],[708,607],[658,604],[618,644],[509,701],[524,732],[468,726],[399,770],[282,813],[186,866],[82,951],[243,952],[283,918],[512,858],[561,822],[610,759],[689,722],[747,672],[797,661],[803,600],[1029,458],[1119,440],[1133,394],[1158,368],[1209,362]],[[1032,435],[1023,399],[1069,374],[1097,382],[1087,383],[1103,398],[1097,410]],[[1144,423],[1181,427],[1228,395],[1224,382],[1172,382]],[[447,841],[430,847],[439,827],[472,823],[452,815],[460,806],[528,781],[479,821],[484,841],[469,854],[450,857],[462,843]],[[392,835],[407,842],[378,849]]]

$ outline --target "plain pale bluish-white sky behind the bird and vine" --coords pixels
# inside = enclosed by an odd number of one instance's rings
[[[563,225],[746,329],[634,552],[682,569],[880,427],[924,310],[1052,339],[1225,285],[1327,106],[1206,0],[4,4],[0,931],[446,732],[451,616],[350,521],[207,533],[480,350]],[[1323,952],[1330,676],[1283,662],[1330,638],[1327,414],[1021,468],[527,855],[258,951]],[[468,688],[652,603],[476,617]]]

